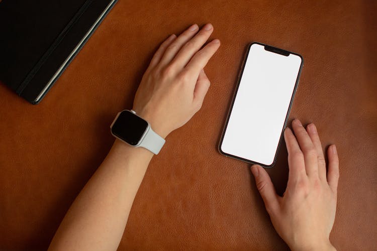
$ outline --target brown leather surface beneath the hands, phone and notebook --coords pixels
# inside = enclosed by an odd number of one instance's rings
[[[376,11],[374,1],[120,0],[40,104],[0,85],[0,249],[47,248],[159,43],[211,22],[222,43],[206,67],[211,88],[153,158],[119,249],[288,249],[249,165],[217,151],[246,45],[258,41],[304,57],[290,121],[315,122],[323,147],[337,145],[332,243],[376,250]],[[287,165],[282,147],[268,171],[279,193]]]

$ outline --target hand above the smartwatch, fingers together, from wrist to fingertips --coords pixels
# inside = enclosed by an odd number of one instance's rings
[[[211,24],[171,35],[154,54],[136,92],[133,110],[165,138],[201,108],[210,87],[203,68],[220,46]],[[202,49],[201,49],[202,48]]]

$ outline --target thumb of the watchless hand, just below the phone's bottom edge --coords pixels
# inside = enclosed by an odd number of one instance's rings
[[[251,166],[251,172],[267,212],[275,210],[278,207],[277,194],[268,173],[259,165]]]

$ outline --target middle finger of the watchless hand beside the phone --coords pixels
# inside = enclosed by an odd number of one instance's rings
[[[314,148],[312,140],[299,119],[292,121],[292,128],[304,154],[306,173],[309,177],[318,177],[317,151]]]

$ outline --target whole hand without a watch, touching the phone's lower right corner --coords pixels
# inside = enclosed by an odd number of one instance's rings
[[[328,148],[328,172],[315,125],[305,130],[292,122],[284,138],[288,149],[289,178],[282,197],[275,192],[268,173],[251,167],[256,186],[277,233],[292,250],[334,250],[329,235],[335,220],[339,160],[335,145]]]

